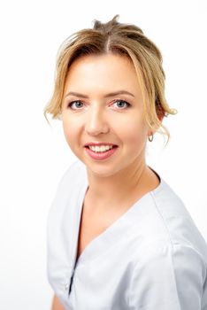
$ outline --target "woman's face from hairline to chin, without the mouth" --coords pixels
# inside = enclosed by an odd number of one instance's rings
[[[111,94],[119,90],[131,95]],[[68,95],[70,92],[79,94]],[[142,93],[134,65],[126,56],[76,59],[66,76],[62,120],[68,145],[94,174],[133,171],[144,161],[149,131],[143,120]],[[91,142],[118,147],[112,149],[111,156],[94,159],[84,147]]]

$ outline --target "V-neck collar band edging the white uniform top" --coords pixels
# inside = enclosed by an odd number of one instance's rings
[[[149,167],[153,170],[151,167]],[[154,170],[153,170],[154,171]],[[154,171],[156,174],[157,172]],[[157,174],[160,183],[155,190],[151,190],[144,194],[142,198],[139,198],[131,207],[129,207],[126,213],[123,213],[119,218],[114,221],[107,229],[105,229],[101,234],[92,239],[84,250],[80,253],[78,260],[78,239],[80,233],[80,220],[81,213],[83,210],[83,202],[85,195],[88,190],[88,176],[86,167],[84,167],[84,178],[80,182],[80,190],[78,192],[78,202],[75,208],[74,215],[74,227],[73,227],[73,246],[72,249],[72,260],[73,269],[79,267],[80,265],[85,265],[88,261],[96,259],[97,256],[106,252],[111,245],[117,243],[120,237],[125,237],[126,231],[132,228],[135,223],[142,221],[143,217],[151,212],[151,196],[152,194],[157,194],[165,186],[165,180]],[[143,207],[142,207],[143,206]]]

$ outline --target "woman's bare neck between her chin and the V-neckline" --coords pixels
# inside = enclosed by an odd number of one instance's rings
[[[108,176],[87,170],[88,201],[100,210],[111,209],[111,206],[119,208],[120,205],[125,205],[126,201],[134,201],[134,196],[141,197],[148,191],[149,177],[153,174],[144,160],[139,163],[134,161],[130,167]]]

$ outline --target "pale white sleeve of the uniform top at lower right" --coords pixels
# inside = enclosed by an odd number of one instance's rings
[[[206,266],[192,247],[153,244],[134,266],[129,287],[133,310],[204,310]]]

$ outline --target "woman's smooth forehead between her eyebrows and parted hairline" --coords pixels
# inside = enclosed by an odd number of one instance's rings
[[[140,85],[132,61],[115,54],[88,55],[77,58],[70,66],[65,90],[113,91],[126,89],[140,93]]]

